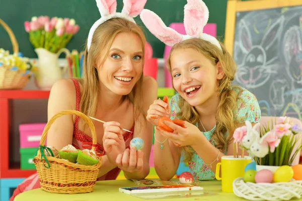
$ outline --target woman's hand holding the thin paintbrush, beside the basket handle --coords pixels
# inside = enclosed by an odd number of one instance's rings
[[[125,141],[120,123],[109,121],[104,123],[103,146],[110,163],[115,164],[119,154],[125,151]]]

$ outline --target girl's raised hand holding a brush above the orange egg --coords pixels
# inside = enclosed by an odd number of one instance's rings
[[[171,108],[168,103],[168,97],[165,96],[163,100],[158,99],[150,105],[147,111],[147,120],[153,125],[158,125],[159,119],[163,116],[171,116]]]

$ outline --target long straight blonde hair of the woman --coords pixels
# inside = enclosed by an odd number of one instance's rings
[[[84,79],[79,79],[83,85],[80,108],[81,111],[88,116],[95,116],[96,114],[98,103],[98,96],[96,94],[98,94],[100,90],[98,70],[95,68],[95,63],[100,55],[102,56],[102,62],[105,61],[115,36],[122,32],[134,33],[142,41],[143,68],[144,44],[146,39],[142,29],[135,23],[123,18],[113,18],[101,24],[94,32],[89,52],[87,51],[86,45],[83,66]],[[142,113],[142,81],[143,76],[141,74],[141,77],[134,85],[132,91],[123,97],[124,100],[128,99],[134,106],[134,121],[139,119],[139,115]],[[143,116],[145,115],[143,114]]]

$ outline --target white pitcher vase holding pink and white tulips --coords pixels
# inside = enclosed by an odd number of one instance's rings
[[[35,75],[36,85],[41,90],[50,90],[52,85],[63,78],[68,66],[60,69],[58,58],[61,53],[66,56],[70,55],[70,51],[66,48],[60,49],[57,53],[52,53],[44,48],[36,48],[38,55],[38,72]]]

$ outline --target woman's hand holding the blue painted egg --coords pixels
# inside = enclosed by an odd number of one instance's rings
[[[143,170],[143,152],[131,147],[119,154],[115,161],[118,168],[126,172],[141,172]]]

